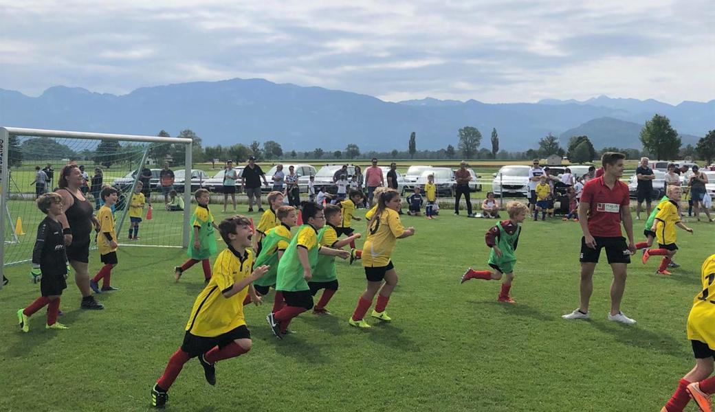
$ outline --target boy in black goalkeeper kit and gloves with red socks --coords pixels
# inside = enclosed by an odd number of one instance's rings
[[[17,311],[21,331],[29,332],[29,317],[47,306],[47,329],[67,329],[57,321],[59,298],[67,288],[67,268],[69,262],[64,249],[64,235],[59,215],[62,214],[62,197],[56,193],[41,194],[37,198],[37,208],[47,215],[37,226],[37,238],[32,250],[32,283],[40,282],[40,297],[30,306]]]

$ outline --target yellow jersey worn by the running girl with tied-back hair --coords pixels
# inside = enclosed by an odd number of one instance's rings
[[[363,266],[388,266],[397,238],[405,233],[400,215],[386,208],[368,227],[368,239],[363,245]]]

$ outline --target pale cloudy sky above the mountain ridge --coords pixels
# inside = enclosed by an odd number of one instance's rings
[[[385,101],[715,99],[711,0],[0,0],[0,89],[233,78]]]

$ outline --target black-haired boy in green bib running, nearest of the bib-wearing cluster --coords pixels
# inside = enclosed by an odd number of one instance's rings
[[[273,334],[279,339],[287,332],[292,318],[313,307],[308,281],[312,278],[313,268],[317,264],[318,253],[339,256],[346,259],[350,252],[320,246],[317,241],[318,229],[325,226],[325,214],[322,205],[312,202],[302,203],[303,224],[290,241],[278,262],[275,289],[283,293],[285,307],[276,313],[268,313],[266,321]]]

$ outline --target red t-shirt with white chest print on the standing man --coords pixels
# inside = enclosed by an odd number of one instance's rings
[[[603,176],[591,179],[583,186],[581,203],[591,204],[588,231],[591,236],[621,236],[621,207],[630,207],[628,185],[616,181],[613,189],[603,182]]]

